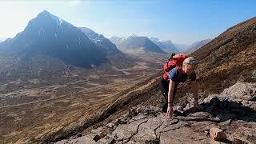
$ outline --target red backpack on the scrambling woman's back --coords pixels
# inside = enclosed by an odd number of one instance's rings
[[[164,70],[163,78],[166,81],[169,81],[168,72],[174,67],[177,67],[178,74],[179,74],[179,76],[181,76],[182,75],[182,63],[186,58],[188,58],[188,56],[186,54],[174,54],[174,53],[171,54],[171,57],[166,62],[165,66],[163,68],[163,70]]]

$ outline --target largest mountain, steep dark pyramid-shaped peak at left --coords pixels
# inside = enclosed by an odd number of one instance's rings
[[[94,45],[82,30],[46,10],[0,47],[1,50],[22,52],[26,58],[46,54],[74,66],[88,67],[107,61],[106,51]]]

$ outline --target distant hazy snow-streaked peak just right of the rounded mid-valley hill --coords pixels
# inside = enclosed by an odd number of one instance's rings
[[[157,44],[162,50],[166,51],[167,53],[178,53],[178,49],[174,46],[174,44],[168,41],[160,41],[158,38],[151,37],[150,40]]]

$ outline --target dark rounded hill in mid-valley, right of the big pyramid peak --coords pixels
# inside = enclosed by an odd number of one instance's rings
[[[166,54],[158,45],[150,41],[150,38],[131,35],[129,38],[120,39],[122,42],[116,43],[119,50],[130,54],[157,53]]]

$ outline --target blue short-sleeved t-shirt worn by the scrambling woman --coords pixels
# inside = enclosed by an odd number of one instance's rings
[[[170,76],[170,79],[174,82],[185,82],[186,79],[188,78],[187,74],[183,74],[181,76],[179,76],[179,73],[178,73],[178,70],[177,70],[177,67],[174,67],[173,69],[171,69],[169,71],[169,76]],[[190,75],[190,80],[191,81],[195,81],[197,78],[196,74],[195,73],[192,73]]]

